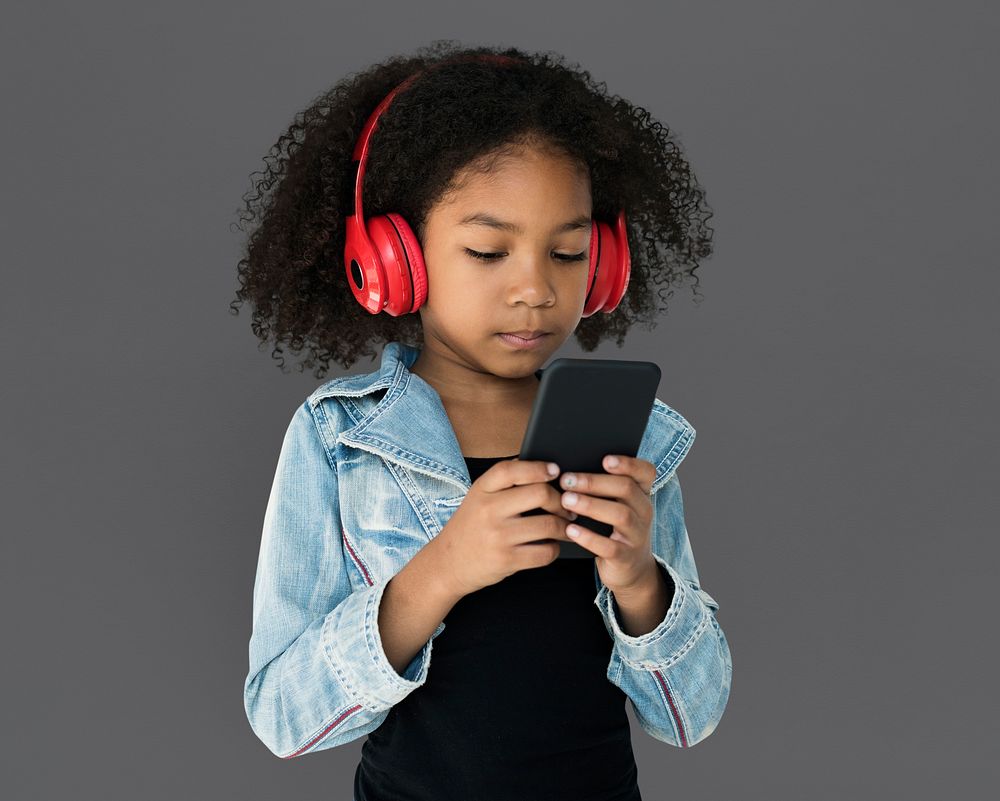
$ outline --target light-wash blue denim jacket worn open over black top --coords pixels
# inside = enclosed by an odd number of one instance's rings
[[[378,629],[388,581],[437,536],[471,482],[440,396],[408,369],[420,351],[388,343],[378,371],[334,378],[298,407],[264,513],[253,588],[250,726],[288,758],[351,742],[419,688],[438,625],[402,675]],[[689,747],[715,729],[732,661],[719,605],[699,584],[677,466],[695,430],[659,398],[638,457],[656,467],[652,553],[673,600],[652,631],[621,627],[594,565],[594,603],[609,635],[607,678],[652,737]]]

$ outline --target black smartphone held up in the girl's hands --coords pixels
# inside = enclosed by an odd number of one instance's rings
[[[518,455],[555,462],[561,473],[606,473],[609,453],[636,456],[660,384],[653,362],[625,359],[554,360],[539,371],[538,394]],[[560,473],[560,475],[561,475]],[[559,476],[550,482],[560,493]],[[547,514],[531,509],[523,515]],[[610,537],[608,523],[579,515],[581,526]],[[582,545],[559,540],[560,559],[593,559]]]

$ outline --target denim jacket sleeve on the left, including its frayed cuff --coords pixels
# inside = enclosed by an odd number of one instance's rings
[[[438,626],[400,676],[382,649],[378,608],[389,579],[352,591],[336,462],[307,401],[284,436],[253,588],[243,703],[254,734],[288,758],[374,730],[427,678]],[[364,574],[367,579],[367,573]]]

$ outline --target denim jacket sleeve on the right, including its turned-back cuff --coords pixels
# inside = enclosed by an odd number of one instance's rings
[[[626,634],[614,593],[599,577],[594,603],[614,640],[608,679],[628,695],[650,736],[688,748],[708,737],[722,718],[733,666],[716,620],[719,605],[698,582],[676,470],[653,494],[651,546],[667,586],[673,585],[666,616],[656,628],[638,637]]]

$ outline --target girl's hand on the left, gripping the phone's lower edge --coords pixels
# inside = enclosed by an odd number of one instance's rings
[[[431,540],[441,580],[459,598],[525,568],[544,567],[569,541],[562,493],[548,482],[548,462],[506,459],[477,478],[441,532]],[[543,509],[550,514],[522,517]],[[542,542],[537,542],[542,540]]]

